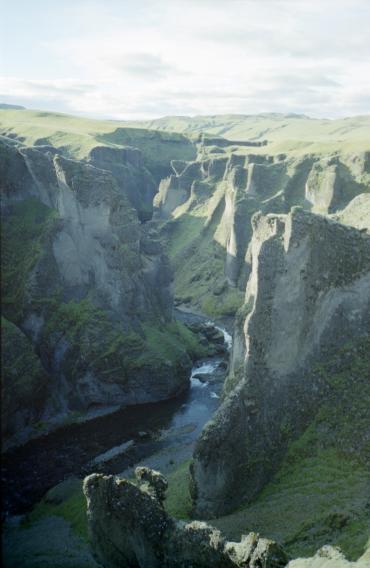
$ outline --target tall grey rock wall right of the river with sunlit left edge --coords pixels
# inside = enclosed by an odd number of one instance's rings
[[[316,372],[370,331],[370,238],[294,208],[256,214],[252,270],[234,332],[227,396],[197,444],[198,515],[252,499],[276,471],[325,385]]]

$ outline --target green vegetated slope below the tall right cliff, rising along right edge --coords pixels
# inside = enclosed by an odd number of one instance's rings
[[[260,532],[293,557],[332,544],[355,560],[369,538],[369,337],[344,346],[317,372],[327,394],[274,479],[250,505],[212,524],[229,538]]]

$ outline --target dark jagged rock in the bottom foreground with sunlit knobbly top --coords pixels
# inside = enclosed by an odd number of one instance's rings
[[[93,474],[84,481],[94,554],[103,566],[161,568],[279,568],[287,557],[253,533],[227,542],[205,523],[176,521],[163,508],[165,478],[136,469],[136,484]]]

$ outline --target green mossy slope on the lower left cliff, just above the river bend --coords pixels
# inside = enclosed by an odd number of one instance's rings
[[[44,330],[50,351],[61,339],[68,343],[64,371],[79,377],[90,366],[105,380],[125,382],[129,374],[144,367],[176,366],[190,355],[206,355],[197,336],[180,322],[142,325],[141,334],[124,331],[89,300],[53,305]]]

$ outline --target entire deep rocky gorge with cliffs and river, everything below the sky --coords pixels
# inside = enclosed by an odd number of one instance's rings
[[[7,566],[369,565],[369,132],[0,110]]]

